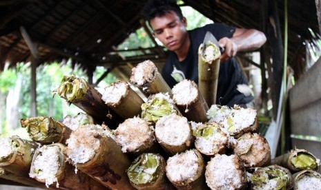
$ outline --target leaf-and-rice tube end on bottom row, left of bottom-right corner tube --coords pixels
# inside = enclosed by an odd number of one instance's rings
[[[248,173],[251,189],[292,189],[293,178],[289,169],[279,165],[256,167]]]

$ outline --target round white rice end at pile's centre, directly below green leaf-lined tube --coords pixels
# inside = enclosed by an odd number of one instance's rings
[[[185,117],[171,114],[159,118],[155,125],[157,140],[171,146],[179,146],[191,136],[191,128]]]

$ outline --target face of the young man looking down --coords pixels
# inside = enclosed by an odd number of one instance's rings
[[[186,19],[179,19],[173,11],[162,17],[155,17],[150,20],[154,36],[163,43],[168,50],[177,51],[185,43],[187,38]]]

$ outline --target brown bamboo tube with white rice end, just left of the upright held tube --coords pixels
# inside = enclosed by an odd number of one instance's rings
[[[208,105],[194,81],[184,80],[172,89],[173,101],[187,120],[206,122]]]

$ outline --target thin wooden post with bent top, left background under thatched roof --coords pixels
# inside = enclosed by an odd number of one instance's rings
[[[29,47],[29,50],[32,55],[32,61],[31,61],[31,89],[30,89],[30,94],[31,94],[31,107],[30,107],[30,113],[31,117],[36,117],[38,115],[37,113],[37,66],[39,63],[39,54],[37,50],[37,46],[35,43],[32,42],[28,32],[26,29],[21,26],[20,27],[20,32],[23,37],[23,39],[26,41],[26,44]]]

